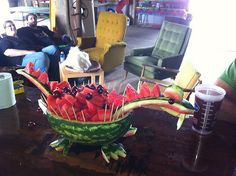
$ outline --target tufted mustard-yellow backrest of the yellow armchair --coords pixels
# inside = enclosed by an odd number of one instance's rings
[[[124,14],[100,12],[96,28],[96,47],[124,40],[127,19]]]

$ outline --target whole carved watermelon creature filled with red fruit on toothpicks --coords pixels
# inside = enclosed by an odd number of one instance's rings
[[[174,91],[169,91],[171,94],[167,90],[164,95],[168,97],[163,97],[158,84],[149,89],[144,83],[139,91],[128,84],[124,94],[119,94],[116,90],[109,92],[105,85],[71,86],[67,81],[50,82],[46,73],[37,71],[34,74],[32,67],[30,64],[17,72],[28,78],[45,95],[46,98],[40,100],[39,105],[45,109],[51,127],[63,136],[52,142],[51,146],[64,153],[69,151],[73,142],[99,145],[102,146],[104,159],[109,162],[110,158],[117,159],[126,155],[123,146],[113,142],[136,132],[137,129],[131,126],[133,109],[160,107],[179,117],[178,129],[186,115],[194,112],[194,107],[183,100],[178,87],[177,95],[174,95]],[[174,87],[175,85],[171,89],[175,89]],[[170,98],[175,101],[170,103]]]

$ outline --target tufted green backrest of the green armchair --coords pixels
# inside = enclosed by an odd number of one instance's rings
[[[164,21],[152,56],[164,59],[179,54],[188,26]]]

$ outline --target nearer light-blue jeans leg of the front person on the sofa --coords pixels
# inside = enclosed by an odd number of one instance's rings
[[[34,70],[40,69],[42,72],[47,72],[50,65],[50,59],[44,52],[25,55],[21,65],[26,66],[29,62],[34,64]]]

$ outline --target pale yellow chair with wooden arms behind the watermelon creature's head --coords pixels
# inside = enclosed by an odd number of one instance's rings
[[[150,79],[144,76],[146,67],[152,67],[157,70],[166,71],[166,72],[172,72],[177,73],[174,80],[155,80]],[[200,80],[201,74],[194,68],[192,63],[190,61],[184,61],[181,64],[181,67],[179,70],[175,69],[168,69],[165,67],[158,67],[153,65],[143,65],[143,69],[141,72],[141,76],[139,79],[139,86],[142,82],[148,82],[148,83],[158,83],[161,86],[161,92],[164,91],[164,89],[169,86],[170,84],[176,84],[182,88],[184,88],[184,98],[188,99],[191,92],[194,90],[195,86],[199,83],[201,83]]]

